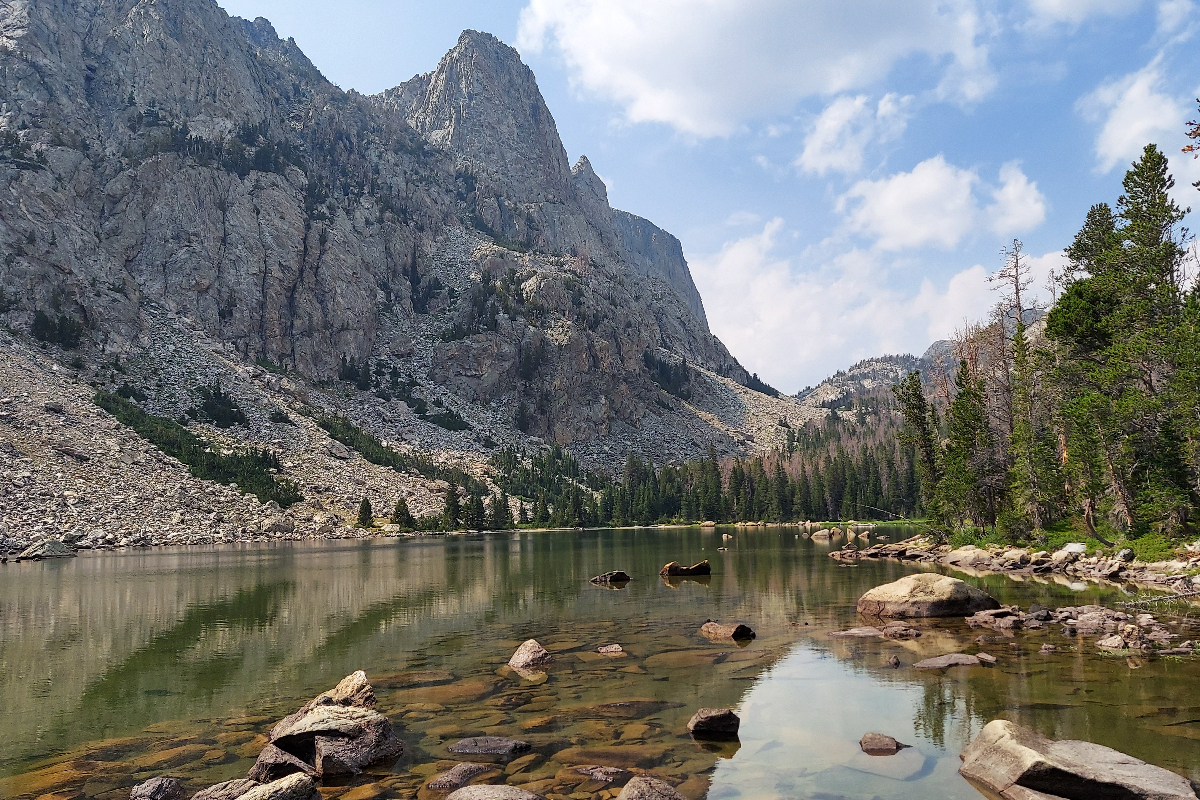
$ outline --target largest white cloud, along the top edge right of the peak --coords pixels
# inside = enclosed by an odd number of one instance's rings
[[[632,122],[727,136],[810,96],[869,89],[902,60],[941,72],[940,96],[995,85],[976,0],[529,0],[517,47],[562,53],[576,88]]]

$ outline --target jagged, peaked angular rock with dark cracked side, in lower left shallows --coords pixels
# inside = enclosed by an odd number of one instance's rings
[[[332,777],[395,760],[403,742],[374,705],[374,690],[362,672],[347,675],[329,692],[280,721],[250,777],[266,782],[293,774]]]

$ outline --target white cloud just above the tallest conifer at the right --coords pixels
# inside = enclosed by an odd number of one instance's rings
[[[1096,161],[1102,173],[1141,154],[1151,142],[1174,142],[1183,130],[1187,108],[1162,88],[1162,54],[1138,72],[1102,84],[1081,97],[1076,108],[1099,125]]]

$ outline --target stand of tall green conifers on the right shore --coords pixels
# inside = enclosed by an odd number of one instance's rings
[[[992,318],[956,342],[944,419],[916,373],[895,389],[930,523],[955,541],[1044,545],[1073,533],[1123,537],[1158,559],[1195,533],[1200,284],[1154,145],[1123,187],[1115,207],[1091,207],[1067,248],[1044,338],[1030,335],[1038,314],[1014,241],[994,276],[1003,295]]]

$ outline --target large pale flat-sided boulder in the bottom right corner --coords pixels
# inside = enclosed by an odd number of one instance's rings
[[[1175,772],[1088,741],[1054,741],[1007,720],[984,726],[962,751],[959,772],[1006,800],[1036,796],[1030,792],[1063,800],[1196,800]]]

